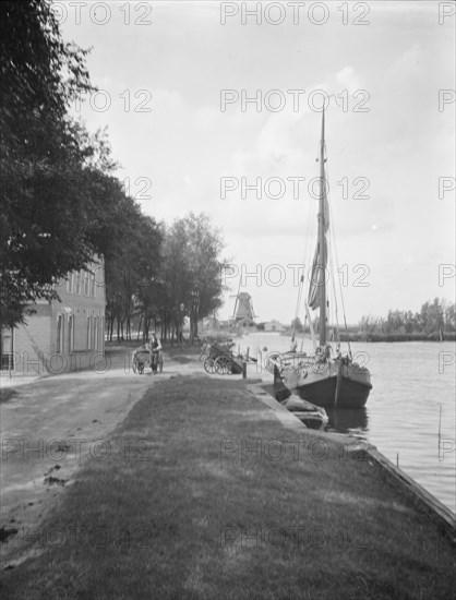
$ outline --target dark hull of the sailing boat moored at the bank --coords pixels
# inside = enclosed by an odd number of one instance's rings
[[[303,367],[284,372],[281,396],[289,393],[324,408],[362,408],[372,389],[368,369],[350,363],[333,361],[320,372]]]

